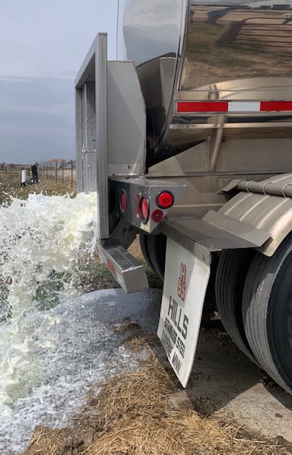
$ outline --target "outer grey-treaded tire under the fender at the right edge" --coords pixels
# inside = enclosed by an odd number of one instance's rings
[[[245,333],[259,365],[292,394],[292,234],[274,256],[256,253],[242,309]]]

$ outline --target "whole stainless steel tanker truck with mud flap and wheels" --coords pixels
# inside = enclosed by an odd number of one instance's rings
[[[78,190],[127,292],[164,279],[185,387],[208,282],[234,343],[292,393],[292,1],[121,0],[75,81]],[[138,304],[138,302],[137,302]]]

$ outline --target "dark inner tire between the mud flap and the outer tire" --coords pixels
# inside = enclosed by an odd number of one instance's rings
[[[232,341],[253,362],[242,321],[242,293],[254,250],[225,250],[220,256],[215,280],[215,296],[221,321]]]

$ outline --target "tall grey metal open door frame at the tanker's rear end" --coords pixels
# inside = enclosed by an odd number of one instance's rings
[[[75,80],[78,191],[97,191],[97,235],[109,237],[107,34],[99,33]]]

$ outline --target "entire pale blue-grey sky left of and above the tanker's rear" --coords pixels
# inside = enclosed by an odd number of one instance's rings
[[[75,159],[74,79],[117,0],[0,0],[0,163]]]

